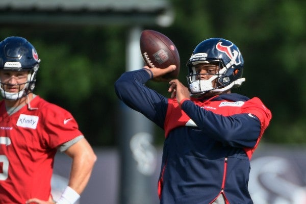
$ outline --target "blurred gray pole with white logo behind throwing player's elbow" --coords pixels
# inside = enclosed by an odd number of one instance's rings
[[[126,49],[126,71],[143,67],[139,48],[141,29],[131,28]],[[152,185],[157,154],[152,145],[153,123],[142,114],[120,104],[122,129],[119,137],[120,203],[150,204],[156,200]],[[157,181],[156,181],[157,182]]]

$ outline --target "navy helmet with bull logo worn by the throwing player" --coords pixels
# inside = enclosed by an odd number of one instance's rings
[[[195,65],[213,63],[219,65],[219,71],[209,80],[199,80]],[[245,81],[242,77],[243,58],[238,47],[231,41],[222,38],[210,38],[200,42],[187,62],[187,81],[191,94],[224,92],[238,87]],[[212,82],[216,80],[217,86]]]

